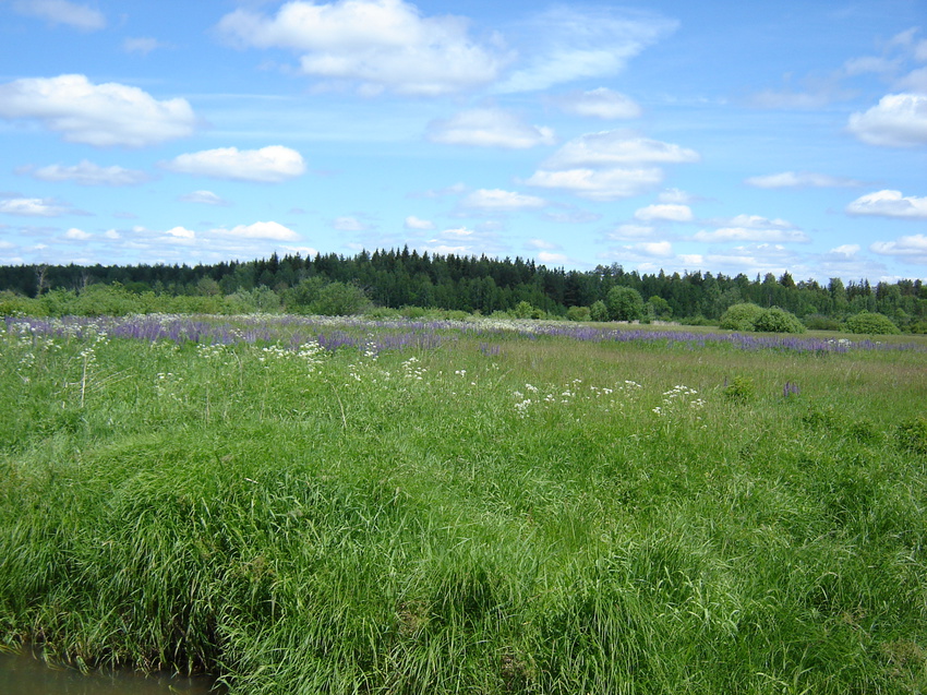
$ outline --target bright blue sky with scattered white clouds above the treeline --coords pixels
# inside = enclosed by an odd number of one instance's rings
[[[0,264],[927,279],[927,0],[0,0]]]

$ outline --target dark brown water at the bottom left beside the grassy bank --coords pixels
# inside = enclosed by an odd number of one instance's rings
[[[87,675],[74,669],[50,668],[32,654],[0,652],[2,695],[206,695],[213,679],[183,678],[168,673],[149,676],[131,671],[95,671]]]

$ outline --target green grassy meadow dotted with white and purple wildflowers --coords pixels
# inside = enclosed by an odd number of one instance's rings
[[[927,343],[179,321],[7,321],[3,644],[249,695],[927,692]]]

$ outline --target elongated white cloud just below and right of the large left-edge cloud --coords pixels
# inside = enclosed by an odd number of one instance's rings
[[[305,172],[302,155],[282,145],[270,145],[261,149],[204,149],[180,155],[162,166],[172,171],[194,176],[265,183],[279,183]]]

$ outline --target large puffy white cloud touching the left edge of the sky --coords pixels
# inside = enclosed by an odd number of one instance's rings
[[[68,142],[143,147],[193,133],[185,99],[159,101],[139,87],[92,84],[80,74],[24,77],[0,85],[0,117],[38,119]]]

